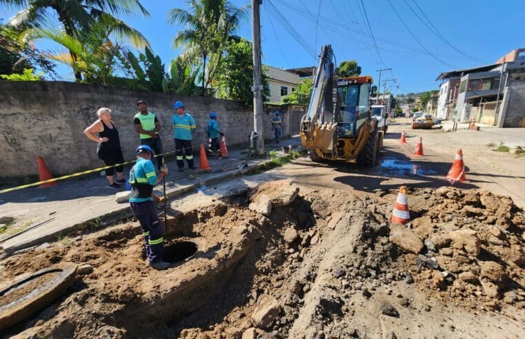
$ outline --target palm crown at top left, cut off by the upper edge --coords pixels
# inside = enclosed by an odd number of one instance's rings
[[[63,25],[64,32],[75,38],[79,38],[81,32],[88,32],[92,23],[102,16],[118,21],[113,15],[138,12],[145,16],[149,15],[139,0],[0,0],[0,4],[22,8],[10,19],[10,24],[16,26],[53,27],[50,14],[55,12]],[[131,32],[132,29],[130,28],[129,31]],[[75,60],[77,57],[75,53],[70,50],[70,54]],[[75,78],[81,80],[80,74],[75,72]]]

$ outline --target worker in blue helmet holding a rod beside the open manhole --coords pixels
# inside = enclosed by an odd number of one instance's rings
[[[130,207],[139,220],[142,235],[146,241],[146,256],[148,266],[154,269],[167,269],[170,264],[162,260],[164,234],[153,204],[153,187],[158,185],[168,174],[168,167],[162,165],[159,175],[155,174],[155,166],[151,162],[153,150],[148,145],[137,147],[137,162],[130,170],[131,185]]]

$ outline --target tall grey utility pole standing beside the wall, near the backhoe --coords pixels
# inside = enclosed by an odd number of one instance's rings
[[[252,34],[253,34],[253,130],[259,136],[259,147],[255,152],[264,154],[262,65],[261,65],[261,18],[259,5],[262,0],[252,0]]]

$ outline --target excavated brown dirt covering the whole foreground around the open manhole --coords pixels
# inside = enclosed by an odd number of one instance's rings
[[[297,191],[267,183],[179,214],[170,236],[200,239],[199,251],[164,272],[137,260],[137,223],[3,260],[1,280],[61,261],[82,272],[66,298],[13,333],[497,337],[504,323],[505,336],[525,335],[525,218],[510,199],[409,190],[407,227],[390,223],[397,192]],[[173,291],[184,298],[170,299]]]

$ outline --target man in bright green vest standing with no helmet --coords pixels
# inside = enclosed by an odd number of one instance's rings
[[[157,168],[160,170],[162,166],[162,141],[159,135],[161,124],[159,119],[152,112],[148,112],[148,106],[144,101],[137,102],[139,111],[135,114],[133,125],[135,130],[140,134],[140,141],[142,145],[148,145],[157,154]],[[159,155],[160,154],[160,155]]]

